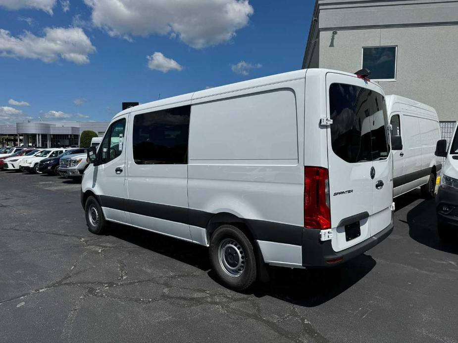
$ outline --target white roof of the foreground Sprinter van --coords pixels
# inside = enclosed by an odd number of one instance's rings
[[[145,104],[141,104],[138,106],[134,106],[134,107],[125,109],[124,111],[121,111],[118,114],[116,114],[113,118],[116,118],[123,114],[127,114],[129,112],[139,112],[139,111],[152,109],[155,107],[168,106],[168,105],[173,105],[173,104],[178,105],[180,102],[190,101],[191,99],[198,99],[198,98],[203,98],[203,97],[222,94],[222,93],[229,93],[229,92],[241,90],[241,89],[247,89],[247,88],[258,87],[258,86],[266,86],[266,85],[276,84],[276,83],[285,82],[285,81],[297,80],[297,79],[305,78],[306,73],[317,73],[317,74],[322,73],[324,75],[327,72],[337,72],[339,74],[344,74],[344,75],[348,75],[348,76],[352,76],[356,78],[355,74],[331,70],[331,69],[300,69],[300,70],[295,70],[292,72],[265,76],[262,78],[237,82],[234,84],[229,84],[229,85],[224,85],[224,86],[212,87],[212,88],[203,89],[203,90],[199,90],[199,91],[192,92],[192,93],[187,93],[183,95],[178,95],[178,96],[173,96],[169,98],[164,98],[164,99],[148,102]]]

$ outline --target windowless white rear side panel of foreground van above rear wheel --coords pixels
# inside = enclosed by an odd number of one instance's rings
[[[261,231],[264,222],[286,224],[302,237],[304,86],[302,77],[192,100],[190,213],[232,214]]]

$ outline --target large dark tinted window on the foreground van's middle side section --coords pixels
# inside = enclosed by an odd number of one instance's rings
[[[191,106],[137,114],[133,125],[136,164],[188,163]]]

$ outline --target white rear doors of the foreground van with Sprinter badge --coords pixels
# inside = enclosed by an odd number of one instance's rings
[[[379,220],[373,222],[373,218],[377,217],[374,214],[380,212],[380,207],[385,208],[385,191],[391,189],[392,192],[385,125],[387,118],[383,96],[368,88],[365,81],[344,74],[327,73],[326,87],[327,116],[333,121],[327,135],[331,224],[334,231],[332,247],[334,251],[342,251],[371,237],[374,224],[374,229],[379,231]],[[383,124],[379,125],[379,122]],[[377,132],[382,130],[381,142],[375,142],[380,134],[373,135],[373,128]],[[379,152],[374,154],[373,149]],[[377,165],[374,165],[374,160]],[[375,188],[379,180],[384,183],[381,191]],[[375,191],[379,192],[376,196]],[[392,199],[392,194],[389,197]],[[381,198],[383,201],[379,204]],[[391,201],[386,207],[388,210],[390,205]],[[382,216],[381,221],[384,221]]]

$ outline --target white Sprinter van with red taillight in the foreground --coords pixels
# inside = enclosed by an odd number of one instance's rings
[[[88,154],[87,224],[208,246],[238,290],[266,264],[337,265],[393,230],[388,128],[380,86],[322,69],[135,106]]]

